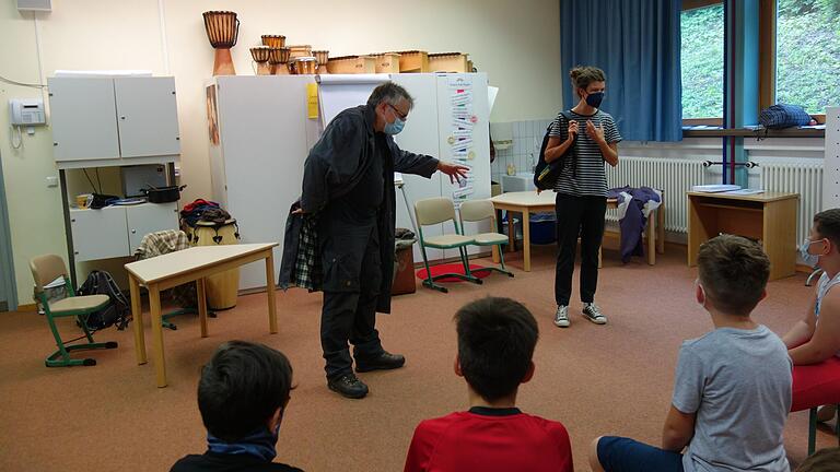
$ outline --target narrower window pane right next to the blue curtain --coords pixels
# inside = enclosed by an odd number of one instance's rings
[[[682,10],[680,35],[682,118],[721,118],[723,4]]]

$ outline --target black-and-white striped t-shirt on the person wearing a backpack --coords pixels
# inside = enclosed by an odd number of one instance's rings
[[[563,164],[563,169],[557,178],[555,191],[574,197],[606,197],[607,175],[604,172],[606,161],[600,154],[598,144],[586,134],[586,121],[592,121],[596,128],[603,126],[604,139],[609,144],[621,141],[616,122],[608,113],[602,110],[591,116],[579,115],[572,110],[567,114],[578,121],[578,141],[574,143],[572,155],[568,157],[569,162]],[[569,120],[562,114],[557,114],[557,118],[551,123],[550,135],[565,141],[568,133]]]

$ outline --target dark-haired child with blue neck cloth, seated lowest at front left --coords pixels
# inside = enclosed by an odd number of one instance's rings
[[[245,341],[219,346],[198,382],[207,452],[184,457],[171,472],[300,472],[272,462],[291,388],[292,366],[281,352]]]

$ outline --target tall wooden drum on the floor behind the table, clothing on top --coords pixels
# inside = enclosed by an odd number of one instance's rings
[[[240,239],[236,220],[233,219],[221,224],[199,221],[192,232],[191,240],[195,246],[233,245],[237,244]],[[207,306],[210,309],[224,310],[236,306],[240,290],[240,268],[210,275],[205,281]]]

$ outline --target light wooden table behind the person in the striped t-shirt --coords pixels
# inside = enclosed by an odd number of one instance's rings
[[[556,211],[557,194],[552,191],[542,191],[537,193],[534,190],[521,192],[508,192],[498,194],[490,199],[497,211],[506,210],[509,212],[522,213],[522,246],[523,263],[525,272],[530,272],[530,213],[545,213]],[[618,208],[618,200],[607,199],[607,208]],[[656,252],[665,252],[665,225],[663,212],[664,205],[660,205],[656,211],[656,217],[648,219],[648,263],[656,263]],[[509,217],[509,222],[513,219]],[[515,228],[509,224],[508,236],[510,238],[510,248],[514,247]],[[513,231],[511,229],[513,228]]]

